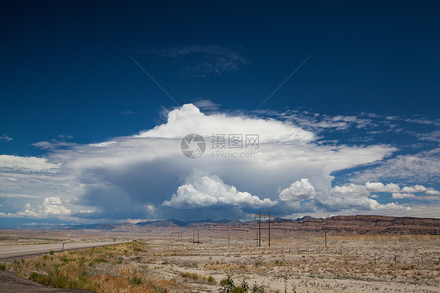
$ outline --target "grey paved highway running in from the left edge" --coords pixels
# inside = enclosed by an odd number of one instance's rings
[[[116,241],[118,243],[125,243],[130,241]],[[94,246],[104,246],[115,244],[114,241],[105,242],[65,242],[64,250],[83,249]],[[7,245],[0,246],[0,259],[23,257],[35,254],[49,253],[51,250],[60,252],[63,250],[61,243],[52,244],[29,244],[29,245]]]

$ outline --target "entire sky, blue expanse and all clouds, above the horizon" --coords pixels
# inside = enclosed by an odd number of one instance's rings
[[[8,3],[0,219],[438,217],[436,11]],[[206,142],[197,159],[189,133]]]

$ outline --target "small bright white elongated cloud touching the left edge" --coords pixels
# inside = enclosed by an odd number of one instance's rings
[[[49,171],[59,168],[59,165],[48,163],[48,159],[35,156],[15,156],[0,154],[0,168],[24,168],[31,171]]]

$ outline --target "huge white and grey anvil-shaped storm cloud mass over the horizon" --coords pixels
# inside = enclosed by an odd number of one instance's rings
[[[36,143],[50,150],[43,157],[0,155],[0,216],[78,221],[245,218],[257,209],[270,209],[293,217],[411,210],[394,199],[423,198],[438,204],[438,191],[426,184],[383,183],[381,174],[389,174],[385,166],[397,174],[399,165],[409,162],[403,155],[392,157],[397,147],[320,139],[323,129],[373,127],[372,118],[318,121],[312,115],[307,122],[305,114],[296,112],[275,117],[203,113],[186,104],[169,111],[165,123],[135,136],[62,148],[56,141]],[[206,141],[206,151],[198,159],[188,159],[181,151],[181,140],[188,133],[198,133]],[[258,136],[258,144],[218,148],[212,143],[230,134]],[[410,162],[416,170],[422,168],[419,161],[429,166],[424,172],[432,179],[438,175],[438,166],[431,164],[437,154],[420,152]],[[334,184],[332,172],[359,166],[364,168],[350,174],[352,183]]]

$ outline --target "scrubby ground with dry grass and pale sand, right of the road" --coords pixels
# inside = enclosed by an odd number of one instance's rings
[[[359,286],[357,291],[388,293],[398,292],[393,286],[403,284],[406,292],[423,291],[421,288],[434,292],[433,288],[440,283],[440,266],[434,267],[440,254],[438,242],[417,244],[419,246],[395,242],[385,245],[382,242],[344,242],[341,255],[340,247],[327,254],[326,250],[320,253],[310,244],[308,249],[305,245],[297,249],[301,245],[296,243],[290,249],[289,243],[283,244],[288,247],[281,249],[278,244],[275,253],[275,249],[244,245],[192,245],[190,242],[153,240],[17,259],[4,264],[3,269],[14,270],[19,276],[54,287],[94,288],[109,293],[118,290],[134,293],[305,293],[307,290],[355,290],[353,286]],[[362,250],[362,247],[367,249]],[[419,252],[423,252],[423,267]],[[230,274],[225,275],[226,271]],[[354,285],[353,280],[359,282]]]

